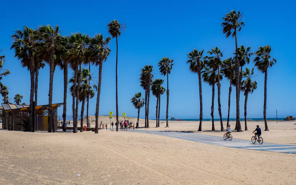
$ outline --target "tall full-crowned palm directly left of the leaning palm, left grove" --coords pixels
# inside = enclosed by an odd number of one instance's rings
[[[79,101],[79,89],[80,89],[80,74],[78,73],[78,67],[80,67],[84,58],[84,54],[89,46],[89,36],[83,35],[81,33],[72,33],[69,37],[69,56],[71,59],[71,68],[74,70],[74,86],[73,86],[73,133],[77,132],[77,122],[78,122],[78,101]],[[75,107],[75,97],[76,97],[76,107]]]

